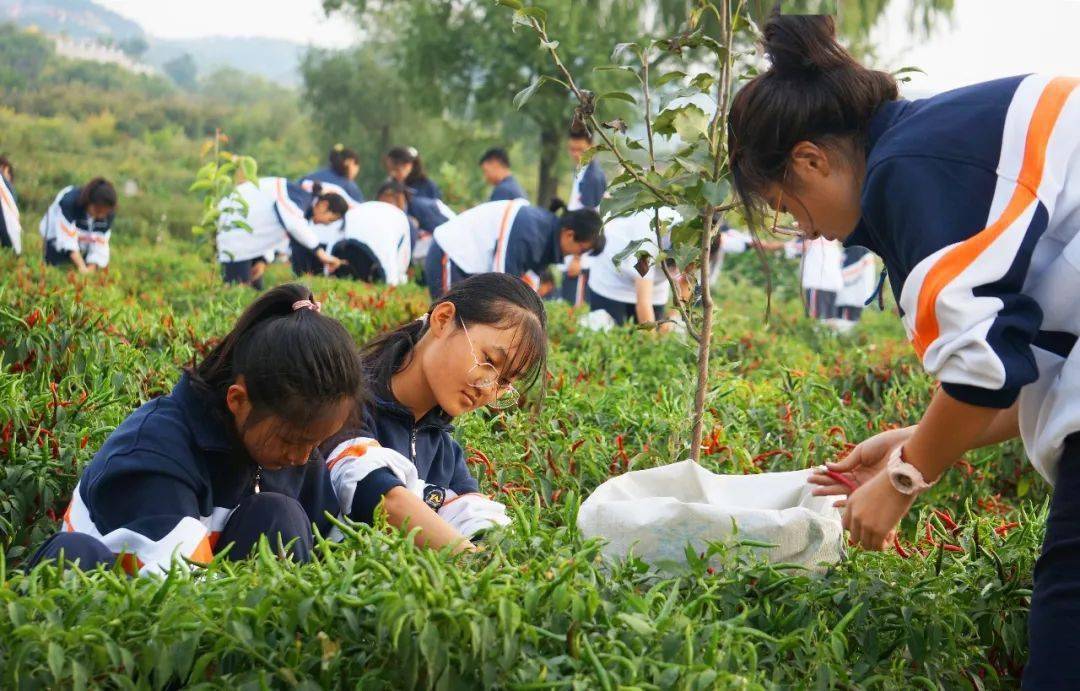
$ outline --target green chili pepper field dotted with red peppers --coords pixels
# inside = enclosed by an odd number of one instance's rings
[[[42,267],[29,244],[29,259],[0,255],[3,688],[1016,685],[1047,496],[1016,443],[969,455],[894,551],[849,550],[818,571],[738,542],[683,569],[609,563],[579,534],[578,506],[613,475],[688,457],[696,351],[581,330],[563,304],[550,307],[542,391],[458,421],[482,490],[512,506],[482,552],[451,557],[386,526],[346,526],[303,566],[266,553],[164,578],[27,573],[108,434],[255,295],[222,286],[178,240],[119,240],[108,274],[89,277]],[[836,336],[787,287],[766,322],[760,271],[731,257],[715,292],[708,470],[804,469],[917,420],[932,384],[891,310]],[[288,280],[287,268],[269,277]],[[310,285],[361,342],[427,309],[418,286]]]

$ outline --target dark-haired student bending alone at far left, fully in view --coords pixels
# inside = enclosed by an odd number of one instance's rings
[[[65,187],[41,219],[45,263],[75,266],[80,273],[109,266],[109,238],[117,213],[117,190],[102,177]]]

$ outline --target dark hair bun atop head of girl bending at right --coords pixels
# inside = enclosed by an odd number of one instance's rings
[[[780,77],[808,77],[854,63],[836,42],[836,22],[829,15],[774,14],[764,35],[772,72]]]

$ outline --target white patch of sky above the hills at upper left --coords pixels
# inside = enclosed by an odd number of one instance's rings
[[[356,40],[352,19],[329,18],[320,0],[95,0],[165,39],[258,36],[320,48]]]

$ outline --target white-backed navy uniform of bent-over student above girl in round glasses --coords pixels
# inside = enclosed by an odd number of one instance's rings
[[[474,273],[525,277],[563,260],[558,216],[525,200],[486,202],[435,229],[424,263],[432,296]],[[534,286],[537,287],[537,286]]]

